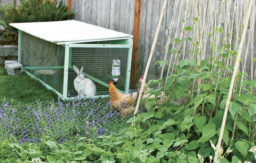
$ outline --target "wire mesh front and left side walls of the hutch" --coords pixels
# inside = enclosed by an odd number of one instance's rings
[[[94,96],[105,96],[111,77],[112,60],[121,61],[120,77],[116,83],[119,91],[128,93],[131,67],[130,42],[98,41],[79,44],[57,45],[20,31],[20,62],[24,70],[46,87],[53,89],[61,98],[78,96],[95,85]],[[125,44],[125,43],[124,43]],[[79,90],[74,80],[79,76],[73,65],[83,67],[83,81]],[[85,79],[84,79],[85,78]],[[88,84],[85,80],[90,80]],[[82,86],[83,85],[83,86]],[[92,96],[92,95],[87,95]]]

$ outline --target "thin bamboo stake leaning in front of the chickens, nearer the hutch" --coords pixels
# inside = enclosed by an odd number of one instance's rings
[[[149,69],[149,66],[150,66],[150,62],[151,62],[151,59],[152,59],[152,56],[153,56],[153,53],[154,53],[154,50],[155,50],[155,44],[157,43],[157,37],[158,37],[158,33],[159,33],[159,30],[160,30],[160,27],[161,27],[161,23],[162,23],[162,19],[163,19],[163,13],[165,12],[166,4],[167,4],[167,0],[165,0],[163,2],[163,7],[162,7],[161,15],[160,15],[160,18],[159,18],[159,21],[158,21],[157,30],[155,31],[154,41],[153,41],[152,48],[151,48],[151,51],[150,51],[150,54],[149,54],[149,57],[148,57],[147,66],[146,66],[146,70],[144,72],[142,85],[140,87],[140,94],[139,94],[139,98],[138,98],[136,108],[135,108],[135,111],[134,111],[134,116],[139,110],[140,100],[142,98],[142,92],[143,92],[144,85],[145,85],[145,82],[146,82],[146,79],[147,79],[147,73],[148,73],[148,69]],[[134,125],[134,121],[132,122],[132,125]]]

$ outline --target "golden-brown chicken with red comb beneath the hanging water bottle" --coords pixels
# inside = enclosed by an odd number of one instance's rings
[[[138,92],[133,92],[129,94],[122,94],[114,86],[113,82],[109,82],[109,99],[110,106],[113,110],[117,111],[118,115],[125,117],[132,113],[132,107],[138,96]]]

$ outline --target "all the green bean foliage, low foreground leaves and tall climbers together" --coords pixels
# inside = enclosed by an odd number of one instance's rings
[[[213,70],[211,66],[202,61],[197,68],[207,69],[199,72],[188,60],[174,65],[176,73],[167,78],[167,84],[150,89],[149,94],[157,97],[147,101],[146,105],[150,106],[151,111],[137,114],[127,121],[135,121],[134,126],[124,126],[116,134],[99,136],[95,140],[80,137],[77,138],[78,143],[59,144],[47,136],[42,137],[42,142],[37,144],[19,145],[8,140],[2,141],[0,160],[4,163],[25,162],[39,157],[46,162],[101,163],[108,160],[122,163],[199,163],[199,153],[209,162],[208,156],[214,156],[209,141],[217,144],[224,114],[223,103],[226,102],[226,90],[231,79],[218,79],[219,73],[209,72],[209,69]],[[225,66],[218,62],[215,67]],[[202,84],[194,88],[193,80],[200,77],[204,78]],[[240,80],[239,73],[237,83]],[[151,80],[147,87],[162,82],[163,79]],[[246,79],[244,82],[251,83]],[[244,91],[240,96],[240,87],[235,87],[231,97],[233,104],[230,107],[234,108],[227,116],[222,147],[224,151],[230,147],[233,152],[224,155],[221,162],[231,162],[237,158],[242,162],[254,159],[248,150],[255,146],[255,115],[250,115],[247,110],[255,104],[256,95],[247,84],[241,84],[241,90]],[[246,87],[250,89],[243,89]],[[160,103],[161,97],[158,95],[162,91],[166,98]]]

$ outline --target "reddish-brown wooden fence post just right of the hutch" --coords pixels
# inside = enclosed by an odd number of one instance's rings
[[[140,4],[141,0],[136,0],[134,28],[133,28],[133,48],[132,48],[132,67],[130,88],[135,89],[138,65],[138,46],[139,46],[139,31],[140,31]]]

